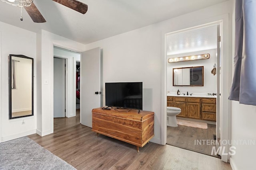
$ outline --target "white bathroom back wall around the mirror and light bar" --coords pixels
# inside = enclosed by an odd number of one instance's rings
[[[186,92],[189,92],[189,94],[193,93],[194,95],[196,93],[202,93],[202,95],[207,95],[208,93],[216,93],[217,75],[214,76],[211,73],[214,63],[217,64],[216,49],[169,55],[168,58],[199,55],[206,53],[210,54],[210,59],[167,63],[167,91],[169,91],[171,94],[176,94],[177,90],[179,89],[181,95],[182,93],[186,94]],[[204,66],[204,86],[172,86],[172,69],[190,66]]]

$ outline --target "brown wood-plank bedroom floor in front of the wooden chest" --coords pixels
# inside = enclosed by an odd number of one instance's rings
[[[54,133],[30,139],[78,170],[231,170],[218,158],[170,145],[148,143],[137,152],[134,145],[92,132],[81,125],[80,115],[54,119]]]

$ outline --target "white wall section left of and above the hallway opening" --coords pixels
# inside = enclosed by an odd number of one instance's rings
[[[41,57],[41,86],[38,87],[38,92],[41,93],[42,98],[38,107],[42,108],[38,121],[42,125],[38,124],[37,133],[41,136],[53,133],[53,56],[54,45],[58,47],[64,47],[73,51],[82,52],[85,46],[81,43],[72,41],[70,39],[61,37],[59,35],[42,30],[40,39],[42,40],[38,44],[40,46]],[[45,83],[47,82],[47,83]]]

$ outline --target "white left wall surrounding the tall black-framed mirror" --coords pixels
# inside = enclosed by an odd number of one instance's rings
[[[8,55],[26,55],[34,58],[36,62],[36,33],[27,31],[12,25],[0,22],[1,40],[1,86],[2,86],[2,107],[0,117],[2,121],[2,142],[23,137],[36,132],[36,92],[34,92],[34,116],[9,119],[8,110]],[[34,65],[34,75],[36,75],[36,65]],[[34,88],[36,79],[34,78]],[[21,120],[25,119],[25,124]],[[0,119],[1,120],[1,119]],[[0,133],[1,135],[1,133]],[[0,136],[1,137],[1,136]]]

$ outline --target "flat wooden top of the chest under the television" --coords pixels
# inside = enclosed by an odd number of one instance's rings
[[[131,109],[130,111],[129,110],[130,109],[115,109],[114,107],[110,110],[107,110],[99,107],[92,109],[92,112],[134,121],[145,121],[146,119],[154,116],[154,112],[152,111],[141,110],[140,113],[138,113],[138,110],[136,109]]]

